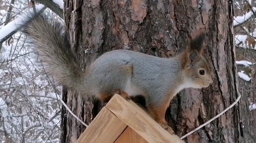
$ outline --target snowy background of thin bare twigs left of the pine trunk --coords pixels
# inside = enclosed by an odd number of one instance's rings
[[[0,39],[18,27],[28,7],[28,0],[13,0],[10,21],[4,23],[11,1],[0,0]],[[54,86],[26,41],[17,32],[0,45],[0,143],[59,143],[62,89]]]

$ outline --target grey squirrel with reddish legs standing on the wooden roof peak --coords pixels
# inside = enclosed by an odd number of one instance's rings
[[[46,72],[59,84],[106,102],[114,93],[124,98],[141,95],[149,113],[166,130],[165,113],[173,97],[185,88],[200,89],[213,82],[202,56],[205,33],[191,38],[187,49],[171,58],[113,50],[82,70],[60,22],[39,15],[23,32],[31,38]]]

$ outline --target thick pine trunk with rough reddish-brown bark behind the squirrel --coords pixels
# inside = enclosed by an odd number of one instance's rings
[[[204,56],[214,83],[202,90],[186,89],[171,102],[166,118],[180,137],[238,97],[232,18],[232,0],[64,0],[66,30],[81,67],[114,49],[171,57],[187,48],[192,33],[206,29]],[[88,124],[103,107],[71,92],[64,92],[63,99]],[[64,108],[62,119],[62,143],[75,142],[85,127]],[[185,140],[239,143],[239,124],[236,106]]]

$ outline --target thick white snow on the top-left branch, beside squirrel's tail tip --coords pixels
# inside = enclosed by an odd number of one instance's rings
[[[38,13],[41,13],[46,9],[46,7],[43,4],[38,4],[35,7]],[[33,9],[33,8],[29,8],[29,9]],[[9,22],[8,24],[6,24],[0,29],[0,43],[4,42],[9,37],[14,35],[25,25],[25,23],[22,23],[22,21],[24,21],[25,16],[26,16],[26,13],[24,12],[21,13],[20,15],[17,16],[17,18],[15,18],[13,21]]]

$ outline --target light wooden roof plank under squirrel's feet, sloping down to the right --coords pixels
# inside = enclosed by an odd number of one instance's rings
[[[185,143],[164,130],[141,107],[120,95],[114,95],[106,107],[148,143]]]

